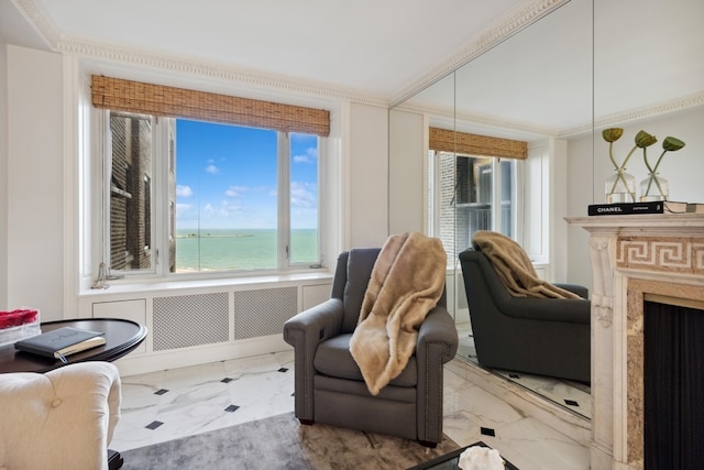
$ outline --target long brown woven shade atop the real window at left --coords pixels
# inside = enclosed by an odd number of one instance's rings
[[[330,111],[94,75],[97,108],[328,136]]]

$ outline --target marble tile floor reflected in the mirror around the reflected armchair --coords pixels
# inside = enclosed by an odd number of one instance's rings
[[[470,325],[458,325],[458,334],[460,337],[460,345],[458,347],[457,357],[477,364],[474,338],[472,337]],[[543,375],[503,371],[498,369],[495,369],[492,372],[499,374],[505,379],[579,415],[586,418],[592,417],[592,394],[591,387],[587,384]]]

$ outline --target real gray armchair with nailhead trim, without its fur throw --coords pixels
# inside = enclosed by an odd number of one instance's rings
[[[301,424],[324,423],[415,439],[442,439],[442,374],[458,348],[443,294],[421,324],[404,371],[372,395],[350,353],[362,300],[381,249],[353,249],[338,259],[331,298],[284,325],[295,349],[295,413]]]

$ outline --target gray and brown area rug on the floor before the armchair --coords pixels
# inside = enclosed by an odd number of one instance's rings
[[[315,424],[293,413],[125,450],[123,470],[150,469],[407,469],[458,449],[443,436],[417,441]]]

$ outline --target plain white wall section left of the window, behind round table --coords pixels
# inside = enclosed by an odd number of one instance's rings
[[[8,306],[61,319],[64,280],[62,56],[8,47]]]

